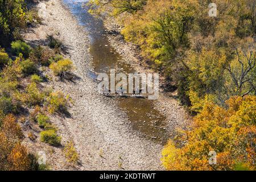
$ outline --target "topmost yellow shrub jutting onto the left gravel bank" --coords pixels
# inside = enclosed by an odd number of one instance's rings
[[[57,63],[52,63],[49,68],[53,71],[56,76],[63,77],[65,73],[72,71],[73,63],[69,59],[64,59],[57,61]]]

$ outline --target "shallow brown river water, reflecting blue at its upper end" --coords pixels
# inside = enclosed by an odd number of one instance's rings
[[[116,69],[124,73],[133,73],[133,67],[123,63],[122,56],[115,52],[110,45],[102,20],[88,13],[86,1],[63,1],[80,24],[85,27],[85,30],[89,32],[94,72],[109,73],[110,69]],[[166,117],[154,109],[154,101],[128,97],[118,98],[118,104],[127,113],[134,130],[139,131],[147,139],[166,142],[168,138]]]

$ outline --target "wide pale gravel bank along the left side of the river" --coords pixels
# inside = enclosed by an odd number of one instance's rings
[[[76,82],[61,82],[53,77],[47,85],[72,97],[71,117],[54,115],[52,123],[59,128],[63,142],[73,139],[80,154],[80,165],[71,167],[65,162],[61,148],[24,140],[31,150],[46,151],[47,161],[53,170],[159,170],[162,144],[141,138],[131,129],[127,115],[115,100],[97,93],[97,84],[88,76],[92,64],[89,38],[84,27],[60,0],[40,2],[37,5],[43,24],[28,32],[24,39],[30,44],[44,42],[53,34],[67,47],[69,57],[79,77]],[[49,73],[50,74],[50,73]],[[38,148],[36,148],[37,146]]]

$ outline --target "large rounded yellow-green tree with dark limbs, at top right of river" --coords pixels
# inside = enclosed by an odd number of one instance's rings
[[[122,34],[138,44],[152,64],[168,68],[189,47],[193,6],[183,1],[148,1],[143,10],[125,20]]]

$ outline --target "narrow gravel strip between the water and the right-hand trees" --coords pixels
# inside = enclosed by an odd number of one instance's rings
[[[106,16],[104,19],[104,25],[110,45],[115,48],[115,51],[122,55],[122,61],[124,63],[130,64],[137,72],[155,72],[140,55],[137,45],[125,41],[121,34],[122,27],[119,26],[115,18]],[[164,85],[164,82],[164,78],[160,77],[160,87],[161,85]],[[187,113],[187,110],[185,110],[185,108],[175,98],[177,93],[166,92],[162,88],[159,90],[159,98],[154,102],[154,107],[163,113],[163,115],[166,115],[168,131],[171,133],[177,127],[187,126],[187,122],[189,122],[191,117]]]

